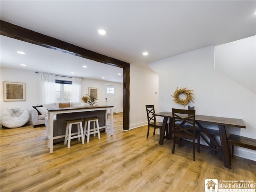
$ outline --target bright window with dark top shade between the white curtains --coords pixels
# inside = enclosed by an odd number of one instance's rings
[[[55,102],[70,102],[72,81],[55,80]]]

